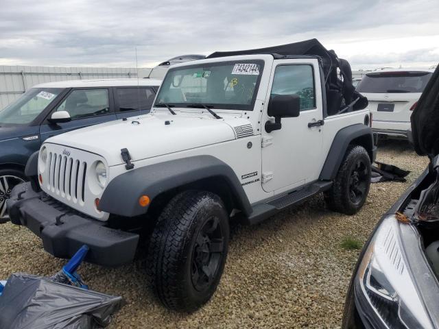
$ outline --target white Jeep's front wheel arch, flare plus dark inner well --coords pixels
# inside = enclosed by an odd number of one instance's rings
[[[237,208],[250,215],[252,208],[233,169],[213,156],[193,156],[152,164],[127,171],[110,181],[99,202],[99,209],[124,217],[158,210],[174,195],[188,189],[217,194],[228,212]],[[141,207],[139,197],[150,197]]]

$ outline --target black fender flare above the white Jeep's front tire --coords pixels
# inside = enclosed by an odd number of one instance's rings
[[[174,188],[206,178],[222,178],[245,215],[252,207],[237,175],[228,164],[214,156],[192,156],[132,169],[110,181],[99,201],[99,210],[110,214],[134,217],[147,212],[139,197],[154,197]]]

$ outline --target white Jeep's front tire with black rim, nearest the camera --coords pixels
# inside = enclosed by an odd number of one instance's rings
[[[191,312],[208,302],[226,264],[226,208],[213,193],[176,195],[158,218],[148,260],[152,286],[172,310]]]

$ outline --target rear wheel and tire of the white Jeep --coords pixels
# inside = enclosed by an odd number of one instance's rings
[[[324,193],[329,209],[354,215],[366,202],[370,188],[370,158],[364,147],[351,145],[333,185]]]

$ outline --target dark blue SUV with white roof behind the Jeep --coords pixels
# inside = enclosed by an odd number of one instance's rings
[[[72,80],[39,84],[0,110],[0,222],[6,199],[26,180],[29,156],[47,138],[150,112],[161,80]]]

